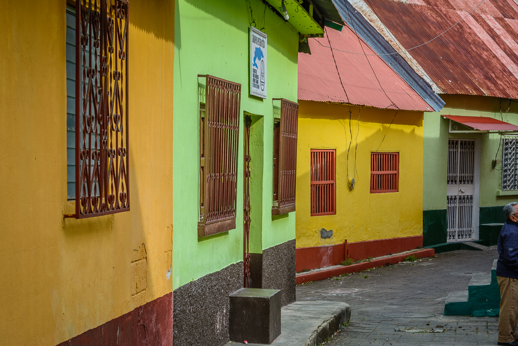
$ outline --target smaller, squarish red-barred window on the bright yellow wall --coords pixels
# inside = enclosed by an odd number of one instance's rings
[[[370,193],[399,191],[399,153],[370,153]]]

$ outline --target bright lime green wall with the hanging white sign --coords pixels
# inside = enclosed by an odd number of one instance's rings
[[[295,239],[295,213],[275,220],[271,217],[274,118],[272,98],[297,100],[298,32],[268,8],[265,11],[262,1],[250,0],[257,27],[261,28],[265,23],[268,35],[268,99],[249,96],[248,4],[244,0],[176,1],[173,127],[174,289],[242,260],[243,112],[264,116],[262,248]],[[198,97],[198,81],[203,81],[202,78],[197,78],[198,74],[210,74],[241,84],[237,228],[206,239],[197,237],[198,107],[202,101]],[[261,201],[261,198],[254,200]]]

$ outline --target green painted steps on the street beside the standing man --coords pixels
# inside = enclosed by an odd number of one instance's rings
[[[450,292],[444,315],[498,316],[500,289],[496,281],[496,262],[490,273],[473,274],[467,290]]]

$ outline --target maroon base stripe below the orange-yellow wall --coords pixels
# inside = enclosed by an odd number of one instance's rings
[[[172,292],[57,346],[172,345]]]

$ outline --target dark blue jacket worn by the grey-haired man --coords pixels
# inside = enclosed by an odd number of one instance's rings
[[[518,279],[518,224],[507,220],[498,236],[496,274]]]

